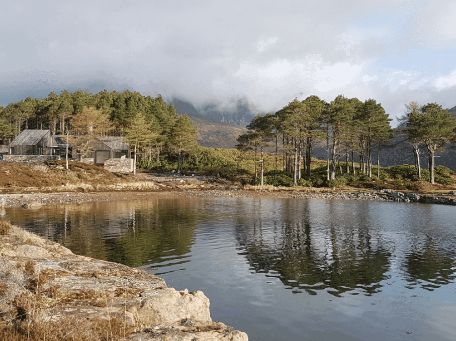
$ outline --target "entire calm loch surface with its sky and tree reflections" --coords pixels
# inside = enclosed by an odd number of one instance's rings
[[[250,340],[456,339],[456,207],[151,198],[8,209],[76,254],[202,290]]]

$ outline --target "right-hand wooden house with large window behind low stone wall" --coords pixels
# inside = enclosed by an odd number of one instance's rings
[[[123,136],[104,136],[93,142],[94,163],[105,164],[108,159],[129,159],[129,144]]]

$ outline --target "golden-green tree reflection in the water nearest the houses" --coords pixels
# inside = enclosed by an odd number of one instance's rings
[[[189,200],[162,198],[46,207],[39,213],[33,220],[18,216],[15,223],[76,254],[133,267],[183,258],[202,214]]]

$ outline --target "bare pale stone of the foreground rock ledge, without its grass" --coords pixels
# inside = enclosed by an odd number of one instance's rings
[[[48,293],[43,296],[43,320],[118,318],[134,328],[126,337],[134,341],[248,340],[245,332],[212,321],[209,299],[202,291],[177,291],[143,270],[74,255],[17,226],[0,239],[3,262],[33,264],[40,291]]]

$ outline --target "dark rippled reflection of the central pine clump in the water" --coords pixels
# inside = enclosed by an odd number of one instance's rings
[[[294,292],[377,292],[391,254],[369,228],[369,217],[340,215],[340,207],[328,202],[313,204],[288,200],[279,210],[266,209],[274,216],[261,216],[264,207],[240,214],[236,238],[252,269],[280,278]]]

